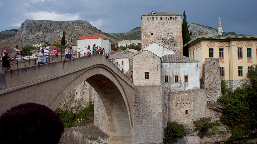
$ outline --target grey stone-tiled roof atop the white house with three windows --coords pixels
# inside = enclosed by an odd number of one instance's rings
[[[187,62],[199,62],[189,57],[179,55],[179,54],[166,54],[161,57],[162,63],[187,63]]]

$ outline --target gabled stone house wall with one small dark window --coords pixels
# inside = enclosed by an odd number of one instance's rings
[[[133,56],[134,85],[161,85],[160,57],[145,50]],[[145,79],[149,72],[149,79]]]

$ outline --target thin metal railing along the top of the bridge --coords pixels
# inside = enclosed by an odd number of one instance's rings
[[[11,60],[9,61],[10,66],[11,66],[11,71],[13,69],[19,69],[19,68],[27,68],[27,66],[34,66],[34,65],[41,65],[38,64],[38,54],[41,52],[41,50],[29,50],[30,53],[22,53],[21,51],[21,55],[18,55],[18,53],[15,55],[16,59],[15,60]],[[72,59],[80,57],[80,56],[88,56],[88,55],[93,55],[92,52],[94,51],[93,47],[90,47],[90,53],[87,53],[88,49],[87,47],[83,47],[80,48],[78,47],[77,51],[74,51],[75,53],[72,54]],[[56,61],[64,61],[65,62],[65,54],[67,54],[67,52],[65,52],[65,50],[57,50],[58,56],[56,56]],[[80,53],[80,56],[78,56]],[[126,74],[125,70],[121,67],[121,65],[117,64],[116,61],[113,59],[113,57],[106,51],[102,51],[101,52],[103,55],[106,55],[106,58],[109,59],[115,66],[117,66],[118,69],[120,69],[128,78],[130,78],[130,76],[128,74]],[[84,55],[83,55],[84,54]],[[98,52],[98,54],[100,54],[100,52]],[[3,56],[4,56],[4,52],[1,53],[0,55],[0,71],[2,71],[2,63],[3,63]],[[8,55],[8,57],[12,57],[13,55]],[[52,51],[50,50],[50,55],[49,55],[49,62],[51,63],[53,62],[53,57],[52,57]]]

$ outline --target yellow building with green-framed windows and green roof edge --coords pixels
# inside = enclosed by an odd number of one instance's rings
[[[240,79],[246,78],[257,60],[256,35],[199,35],[185,46],[188,46],[189,57],[200,61],[200,78],[205,58],[219,58],[221,76],[225,77],[232,91],[240,85]]]

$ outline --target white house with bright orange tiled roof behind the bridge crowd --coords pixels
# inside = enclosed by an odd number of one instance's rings
[[[77,51],[80,51],[84,56],[87,53],[87,46],[90,45],[92,51],[93,45],[96,44],[96,46],[104,48],[105,52],[111,55],[111,43],[111,40],[103,34],[84,35],[77,39]]]

